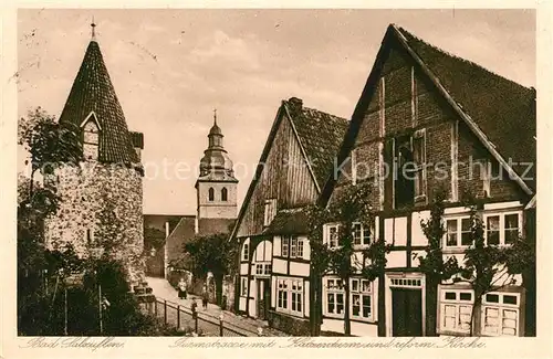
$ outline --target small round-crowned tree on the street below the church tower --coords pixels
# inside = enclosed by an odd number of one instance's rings
[[[198,277],[213,274],[217,303],[222,303],[222,281],[225,275],[232,274],[236,266],[238,249],[229,242],[225,233],[196,236],[184,244],[185,253],[192,258],[192,272]]]

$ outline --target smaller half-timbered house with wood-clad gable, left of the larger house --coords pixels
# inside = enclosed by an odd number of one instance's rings
[[[313,204],[347,122],[283,101],[230,240],[240,243],[236,312],[309,332],[310,245],[302,208]]]

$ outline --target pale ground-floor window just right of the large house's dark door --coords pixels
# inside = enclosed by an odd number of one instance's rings
[[[442,291],[440,303],[440,328],[448,331],[470,332],[472,304],[471,291]]]

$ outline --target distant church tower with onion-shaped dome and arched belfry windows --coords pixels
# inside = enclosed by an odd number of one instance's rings
[[[237,187],[232,161],[222,146],[222,130],[217,125],[217,113],[213,126],[209,130],[208,148],[200,161],[200,176],[196,181],[199,221],[207,219],[237,218]]]

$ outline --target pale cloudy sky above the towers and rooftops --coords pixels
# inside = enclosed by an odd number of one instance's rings
[[[91,21],[131,130],[145,135],[145,214],[195,214],[194,188],[217,122],[239,204],[282,99],[349,118],[389,23],[535,86],[533,10],[55,10],[18,12],[19,117],[56,118]],[[18,170],[24,170],[18,152]]]

